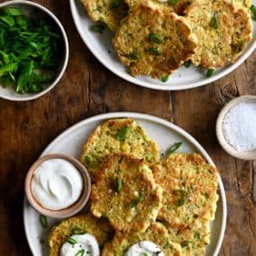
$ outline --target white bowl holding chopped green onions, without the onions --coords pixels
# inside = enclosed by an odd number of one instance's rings
[[[55,80],[49,84],[46,84],[46,88],[43,91],[39,93],[22,93],[21,94],[21,93],[16,93],[15,90],[12,88],[12,86],[3,87],[2,85],[0,85],[0,98],[3,98],[5,100],[10,100],[10,101],[16,101],[16,102],[34,100],[44,95],[45,93],[48,93],[58,83],[58,81],[60,80],[60,78],[62,77],[62,75],[66,70],[67,61],[69,57],[69,46],[68,46],[68,40],[66,37],[66,31],[64,30],[62,24],[58,21],[57,17],[53,13],[51,13],[46,7],[40,4],[36,4],[31,1],[13,0],[13,1],[7,1],[0,4],[0,9],[6,6],[21,8],[24,13],[30,13],[32,9],[38,9],[39,11],[46,13],[52,19],[52,21],[57,24],[57,27],[63,37],[63,41],[64,41],[63,59],[60,61],[59,67],[57,68],[57,74],[56,74]]]

